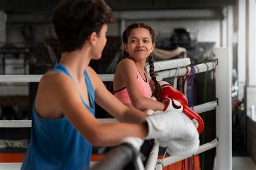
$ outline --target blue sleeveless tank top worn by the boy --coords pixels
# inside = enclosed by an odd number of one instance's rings
[[[56,64],[51,71],[72,76],[64,65]],[[85,82],[90,100],[88,106],[82,96],[84,106],[95,115],[95,92],[86,71]],[[75,81],[74,81],[75,82]],[[31,139],[21,169],[88,169],[92,146],[70,124],[66,117],[42,119],[32,108]]]

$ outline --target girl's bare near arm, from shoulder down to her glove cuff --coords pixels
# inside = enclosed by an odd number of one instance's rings
[[[142,111],[147,109],[154,111],[164,109],[165,105],[163,103],[143,96],[138,85],[136,65],[131,59],[123,59],[122,62],[118,64],[116,72],[122,75],[133,107]]]

